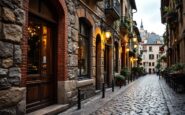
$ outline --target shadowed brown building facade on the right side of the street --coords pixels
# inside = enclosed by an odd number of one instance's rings
[[[167,46],[168,66],[185,63],[185,2],[183,0],[161,0],[161,21],[166,23],[164,33]]]

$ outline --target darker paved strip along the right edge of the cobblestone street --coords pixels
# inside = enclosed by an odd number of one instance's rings
[[[164,81],[160,80],[164,96],[171,115],[185,115],[185,94],[174,92]]]

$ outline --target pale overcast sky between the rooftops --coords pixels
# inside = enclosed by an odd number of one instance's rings
[[[165,26],[161,23],[160,0],[135,0],[137,12],[134,13],[134,20],[140,28],[141,19],[144,29],[148,32],[155,32],[163,35]]]

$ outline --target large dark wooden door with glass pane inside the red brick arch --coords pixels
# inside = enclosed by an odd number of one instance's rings
[[[53,104],[56,100],[53,25],[37,17],[29,17],[27,112]]]

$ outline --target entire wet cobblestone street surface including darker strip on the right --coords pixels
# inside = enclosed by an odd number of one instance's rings
[[[173,111],[169,109],[170,106]],[[88,114],[185,115],[185,94],[176,94],[156,75],[147,75]]]

